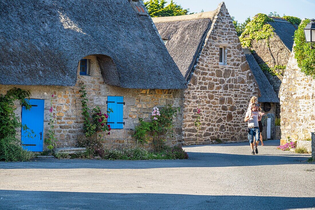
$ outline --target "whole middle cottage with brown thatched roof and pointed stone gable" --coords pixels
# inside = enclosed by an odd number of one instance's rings
[[[184,101],[185,143],[247,139],[245,110],[250,98],[260,93],[225,4],[210,12],[153,21],[189,83]],[[202,116],[197,133],[198,107]]]

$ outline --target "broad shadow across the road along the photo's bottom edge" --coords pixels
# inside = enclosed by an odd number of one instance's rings
[[[0,190],[0,209],[295,209],[314,197]]]

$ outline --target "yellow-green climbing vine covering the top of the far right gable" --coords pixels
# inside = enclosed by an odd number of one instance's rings
[[[274,28],[268,24],[268,21],[274,21],[267,15],[259,13],[246,26],[244,32],[239,37],[243,46],[251,47],[253,40],[266,39],[269,47],[268,39],[273,36]]]

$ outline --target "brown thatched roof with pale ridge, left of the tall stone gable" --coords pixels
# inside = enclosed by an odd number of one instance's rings
[[[189,79],[212,20],[217,13],[218,10],[192,15],[152,18],[162,39],[167,40],[165,46],[186,80]]]

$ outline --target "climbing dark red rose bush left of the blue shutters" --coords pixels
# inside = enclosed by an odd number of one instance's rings
[[[85,90],[86,85],[81,82],[80,93],[82,98],[82,115],[83,115],[83,129],[85,131],[86,139],[79,140],[80,146],[89,147],[93,149],[95,144],[101,146],[101,140],[107,135],[110,135],[111,127],[107,125],[107,119],[109,114],[112,113],[112,109],[102,113],[100,108],[96,106],[92,109],[91,114],[89,113],[90,108],[88,108],[87,102],[87,91]]]

